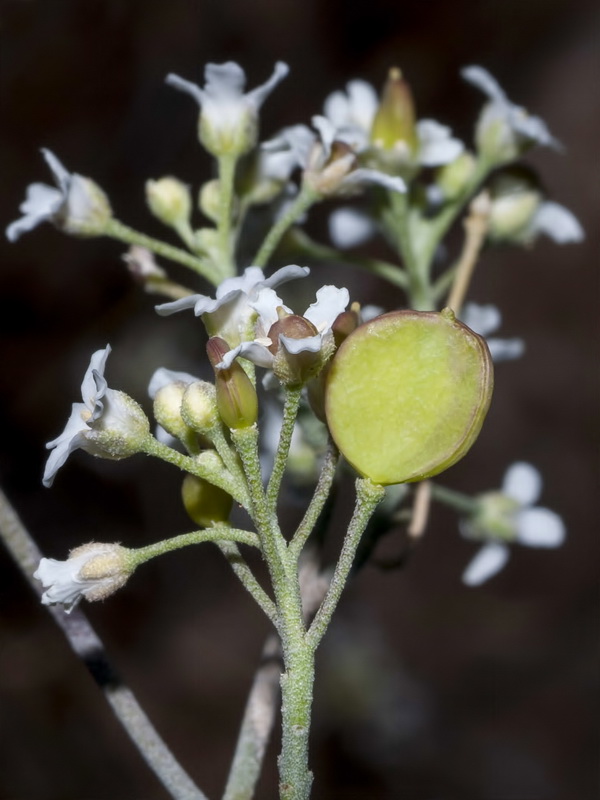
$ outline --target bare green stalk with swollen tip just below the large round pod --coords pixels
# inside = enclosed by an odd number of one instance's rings
[[[348,575],[354,563],[354,557],[361,537],[371,519],[373,512],[383,500],[385,489],[383,486],[371,483],[368,478],[358,478],[356,481],[356,506],[354,514],[348,526],[348,532],[342,545],[342,552],[335,567],[331,584],[317,611],[315,618],[308,633],[306,641],[313,649],[316,649],[327,630],[331,617],[335,611],[342,590],[348,580]]]

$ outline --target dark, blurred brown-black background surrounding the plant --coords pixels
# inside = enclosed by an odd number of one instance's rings
[[[568,540],[547,552],[514,548],[501,575],[469,590],[460,575],[474,546],[436,507],[405,570],[363,570],[320,655],[312,763],[318,800],[597,797],[597,3],[4,0],[0,9],[1,226],[18,216],[28,183],[48,180],[46,146],[93,176],[119,218],[162,235],[143,181],[175,174],[197,187],[210,175],[192,101],[164,77],[200,81],[208,61],[238,61],[251,88],[276,60],[290,64],[264,106],[264,136],[307,122],[349,79],[377,85],[399,65],[420,116],[470,141],[482,96],[458,71],[480,63],[565,143],[565,156],[532,160],[587,240],[486,254],[471,297],[502,308],[502,332],[523,336],[527,354],[498,368],[484,432],[445,482],[483,491],[512,461],[531,461]],[[94,350],[110,341],[110,385],[143,400],[156,367],[201,370],[199,324],[157,320],[117,243],[43,225],[0,247],[0,479],[44,553],[189,530],[179,477],[160,463],[78,453],[52,490],[40,476],[44,444],[62,430]],[[340,273],[326,277],[365,302],[401,305],[383,284]],[[340,524],[349,488],[347,500]],[[387,550],[401,548],[398,533]],[[164,798],[2,549],[0,570],[0,797]],[[87,610],[159,730],[216,797],[267,632],[220,554],[172,554]],[[275,797],[276,751],[265,800]]]

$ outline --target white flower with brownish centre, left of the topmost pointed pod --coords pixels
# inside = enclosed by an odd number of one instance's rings
[[[265,142],[263,148],[269,152],[291,153],[304,172],[304,181],[324,197],[351,193],[366,183],[384,186],[394,192],[406,191],[402,178],[376,169],[357,168],[357,151],[338,137],[338,131],[326,117],[315,116],[312,124],[318,135],[306,125],[294,125]],[[341,154],[334,151],[336,141],[346,145]]]

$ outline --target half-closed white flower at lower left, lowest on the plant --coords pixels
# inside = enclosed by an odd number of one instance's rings
[[[103,600],[127,582],[132,572],[127,553],[118,544],[89,542],[71,550],[66,561],[42,558],[33,573],[46,589],[42,603],[62,603],[70,614],[82,597]]]

